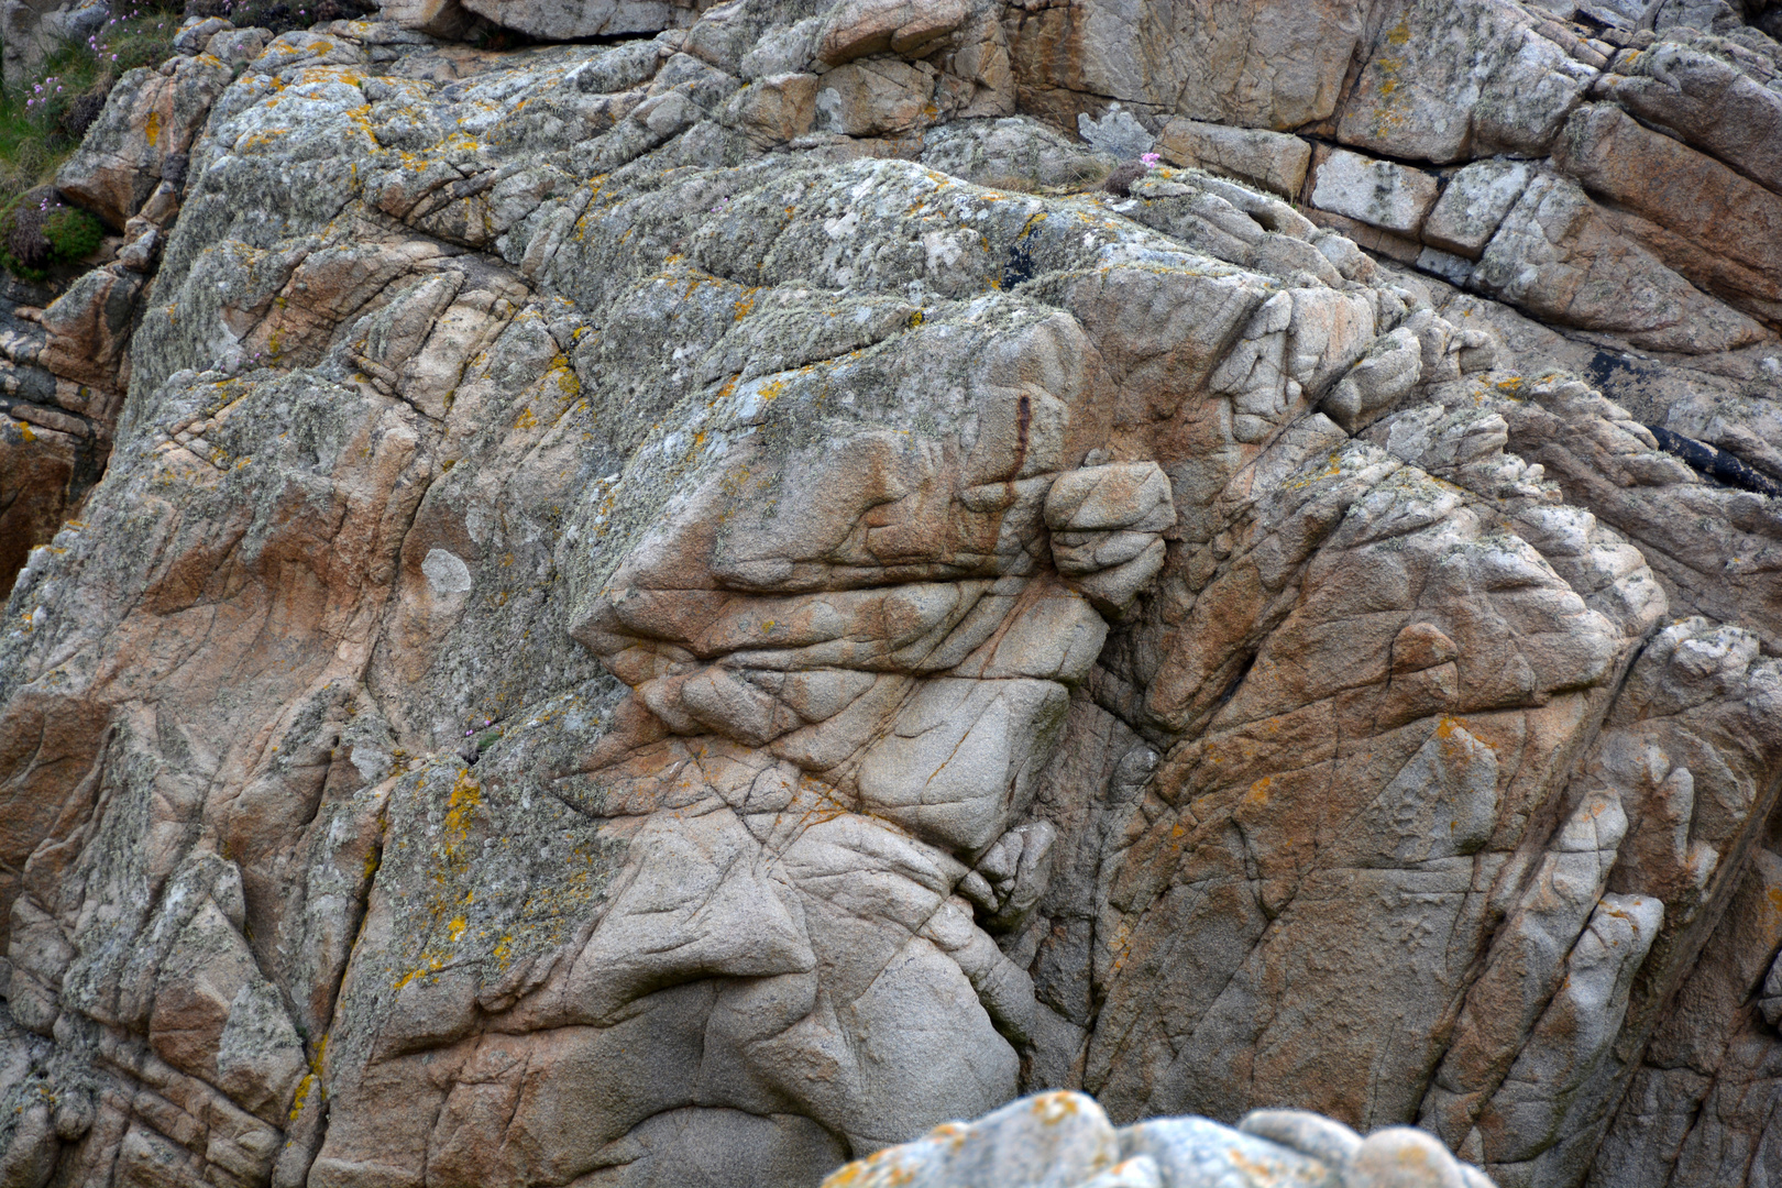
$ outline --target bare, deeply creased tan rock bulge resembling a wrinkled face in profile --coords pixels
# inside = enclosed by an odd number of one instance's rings
[[[1050,826],[1014,828],[1107,638],[1096,604],[1155,577],[1174,504],[1157,463],[1064,468],[1085,388],[1000,378],[968,372],[953,433],[782,440],[747,424],[759,390],[731,397],[745,433],[572,591],[570,634],[629,688],[565,796],[604,858],[595,917],[499,1005],[486,972],[396,974],[315,1176],[405,1151],[355,1110],[371,1094],[435,1101],[429,1183],[668,1184],[713,1158],[813,1179],[1018,1092],[1034,985],[978,921],[1018,928],[1046,889]],[[458,777],[453,844],[492,841],[470,805],[497,764]],[[412,919],[390,894],[367,928]]]

